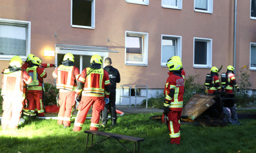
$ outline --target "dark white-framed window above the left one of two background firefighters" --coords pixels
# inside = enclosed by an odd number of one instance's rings
[[[211,67],[212,39],[194,38],[194,67]]]

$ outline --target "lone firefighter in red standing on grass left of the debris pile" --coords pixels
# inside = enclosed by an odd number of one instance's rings
[[[168,60],[169,77],[164,88],[164,114],[168,116],[168,129],[171,144],[180,144],[180,125],[183,107],[184,78],[181,74],[182,63],[179,60]]]

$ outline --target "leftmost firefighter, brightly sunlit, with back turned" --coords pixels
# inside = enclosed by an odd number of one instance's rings
[[[30,84],[32,78],[22,70],[22,59],[19,56],[14,56],[10,60],[9,67],[4,69],[2,80],[3,96],[3,118],[1,128],[16,129],[22,114],[24,94],[24,84]]]

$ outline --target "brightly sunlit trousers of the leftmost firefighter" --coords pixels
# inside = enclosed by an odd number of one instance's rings
[[[23,109],[24,97],[3,96],[2,129],[16,129]]]

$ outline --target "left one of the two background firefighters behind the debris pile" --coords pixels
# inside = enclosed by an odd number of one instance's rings
[[[210,87],[208,89],[208,94],[213,94],[214,91],[217,91],[217,90],[221,91],[218,71],[219,70],[216,66],[213,66],[210,69],[211,82],[210,82]]]

